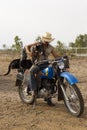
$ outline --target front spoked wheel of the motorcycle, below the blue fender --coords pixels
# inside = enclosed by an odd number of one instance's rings
[[[65,86],[64,103],[72,115],[79,117],[84,111],[84,101],[82,94],[76,84],[70,85],[67,82]]]

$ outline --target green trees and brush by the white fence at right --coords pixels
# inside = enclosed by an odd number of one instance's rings
[[[58,52],[60,54],[64,54],[67,51],[67,54],[71,54],[71,53],[75,53],[74,49],[78,49],[77,53],[83,53],[86,52],[87,53],[87,34],[80,34],[79,36],[76,37],[75,42],[70,42],[68,47],[70,47],[71,49],[67,49],[65,46],[65,44],[62,43],[61,41],[57,41],[57,45],[56,45],[56,50],[58,50]],[[85,50],[83,50],[82,48],[86,48]]]

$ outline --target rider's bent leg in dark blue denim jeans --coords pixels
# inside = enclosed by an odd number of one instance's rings
[[[33,90],[33,91],[35,91],[37,89],[37,78],[36,78],[35,74],[38,75],[39,71],[40,70],[37,65],[32,65],[32,67],[29,70],[29,84],[30,84],[31,90]]]

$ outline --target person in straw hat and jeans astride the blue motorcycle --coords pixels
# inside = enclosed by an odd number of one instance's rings
[[[55,51],[54,47],[49,44],[53,40],[54,38],[52,38],[52,34],[46,32],[44,35],[41,36],[40,42],[25,46],[27,54],[31,56],[33,61],[33,65],[29,70],[29,83],[30,83],[33,96],[35,96],[36,88],[39,87],[40,85],[39,76],[40,74],[42,74],[41,69],[37,63],[41,61],[43,62],[43,60],[48,60],[50,54],[52,54],[54,58],[58,58],[58,54]],[[47,101],[49,106],[54,106],[51,97],[45,99],[45,101]]]

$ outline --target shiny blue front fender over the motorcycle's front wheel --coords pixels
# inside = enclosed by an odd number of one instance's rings
[[[60,74],[60,77],[63,77],[66,80],[68,80],[69,84],[71,84],[71,85],[79,82],[78,79],[69,72],[62,72]]]

